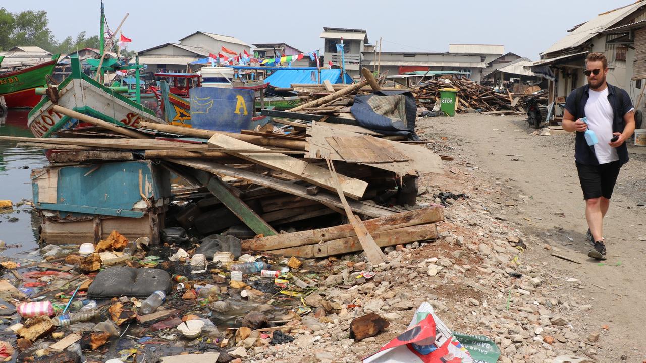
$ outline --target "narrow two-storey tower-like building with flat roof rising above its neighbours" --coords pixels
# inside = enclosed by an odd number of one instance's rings
[[[332,61],[334,68],[341,65],[341,55],[337,53],[337,44],[343,39],[343,50],[346,72],[352,77],[359,76],[362,64],[362,52],[368,44],[368,34],[363,29],[323,28],[320,37],[323,42],[323,66]]]

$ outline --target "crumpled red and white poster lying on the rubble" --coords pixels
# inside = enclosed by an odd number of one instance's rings
[[[462,344],[424,302],[408,329],[363,359],[365,363],[474,363]]]

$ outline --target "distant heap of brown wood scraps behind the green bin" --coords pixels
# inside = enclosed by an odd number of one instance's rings
[[[515,112],[525,113],[525,99],[531,94],[503,94],[495,92],[490,87],[478,85],[474,81],[464,78],[437,79],[422,83],[413,90],[418,106],[432,109],[433,104],[440,97],[441,88],[457,89],[457,112],[465,112],[468,109],[481,110],[483,114],[512,114]]]

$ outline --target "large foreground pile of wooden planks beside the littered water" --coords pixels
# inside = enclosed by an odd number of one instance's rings
[[[329,99],[369,84],[310,103],[325,107]],[[132,129],[86,116],[83,121],[93,126],[59,131],[56,138],[0,139],[48,150],[53,166],[153,160],[181,177],[160,220],[200,237],[229,233],[251,239],[247,249],[317,257],[363,249],[379,263],[384,261],[379,247],[435,238],[439,209],[398,213],[395,206],[415,204],[417,178],[441,174],[440,157],[424,143],[298,112],[306,108],[282,112],[284,118],[273,125],[239,134],[146,122]],[[71,110],[57,112],[74,117]],[[329,228],[342,233],[315,241],[298,238],[298,231]],[[256,236],[262,237],[253,240]],[[269,249],[262,238],[290,242]]]

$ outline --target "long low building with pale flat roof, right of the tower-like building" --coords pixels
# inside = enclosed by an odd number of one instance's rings
[[[466,73],[467,78],[479,82],[482,70],[486,67],[479,54],[451,53],[401,53],[401,52],[363,52],[364,67],[389,75],[404,74],[416,70],[452,70]]]

